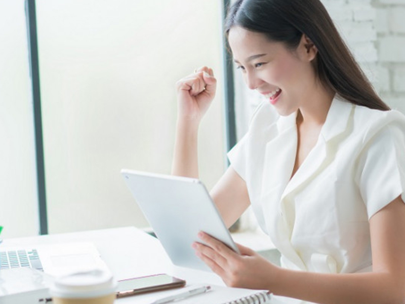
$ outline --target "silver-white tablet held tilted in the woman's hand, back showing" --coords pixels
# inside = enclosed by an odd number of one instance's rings
[[[198,179],[123,169],[121,174],[175,265],[211,271],[191,247],[204,231],[239,253],[206,187]]]

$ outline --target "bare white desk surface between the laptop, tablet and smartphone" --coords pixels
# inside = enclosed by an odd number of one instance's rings
[[[5,239],[2,249],[82,241],[95,244],[116,280],[167,273],[185,279],[187,285],[206,283],[224,286],[221,278],[214,273],[173,265],[160,242],[135,227]],[[136,297],[116,302],[135,303]]]

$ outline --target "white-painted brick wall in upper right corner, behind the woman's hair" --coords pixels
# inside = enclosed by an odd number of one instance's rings
[[[405,113],[405,0],[322,3],[382,99]]]

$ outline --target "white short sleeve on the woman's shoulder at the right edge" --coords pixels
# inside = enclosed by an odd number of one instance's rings
[[[394,122],[378,130],[363,147],[358,186],[370,219],[405,189],[405,127]]]

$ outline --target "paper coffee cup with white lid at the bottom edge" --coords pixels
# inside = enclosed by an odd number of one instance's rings
[[[97,269],[56,278],[50,294],[54,304],[112,304],[115,289],[111,273]]]

